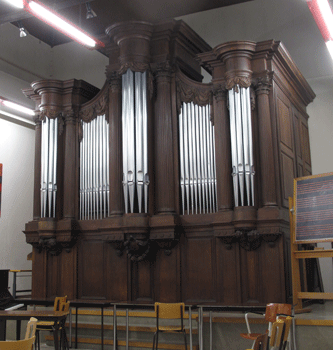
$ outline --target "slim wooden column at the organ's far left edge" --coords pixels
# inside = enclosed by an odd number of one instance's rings
[[[34,207],[33,219],[40,219],[40,180],[41,180],[41,157],[42,157],[42,122],[39,116],[35,119],[35,172],[34,172]]]

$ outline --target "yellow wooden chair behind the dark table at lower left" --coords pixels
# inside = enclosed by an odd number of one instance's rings
[[[66,301],[67,296],[65,297],[56,297],[54,300],[53,305],[53,311],[63,311],[63,312],[69,312],[70,303]],[[49,331],[53,332],[53,336],[55,336],[55,328],[54,328],[54,322],[52,321],[41,321],[37,322],[37,328],[36,328],[36,344],[35,348],[37,350],[40,350],[40,331]],[[63,349],[68,349],[68,342],[66,337],[66,332],[64,327],[60,325],[59,327],[60,331],[60,347],[62,346]]]

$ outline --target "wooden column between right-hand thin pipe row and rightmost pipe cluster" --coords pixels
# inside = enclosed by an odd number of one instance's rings
[[[232,209],[232,177],[230,149],[230,121],[227,91],[214,90],[214,127],[216,149],[216,178],[218,211]]]

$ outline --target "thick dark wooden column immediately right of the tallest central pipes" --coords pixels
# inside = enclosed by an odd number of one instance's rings
[[[174,158],[172,144],[171,67],[155,67],[156,101],[154,120],[155,214],[175,212]]]

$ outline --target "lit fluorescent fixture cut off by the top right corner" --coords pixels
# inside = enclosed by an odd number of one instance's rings
[[[307,0],[308,7],[333,59],[333,13],[328,0]]]

